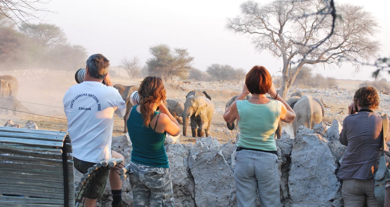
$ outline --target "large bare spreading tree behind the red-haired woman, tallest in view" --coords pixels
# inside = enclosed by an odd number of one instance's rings
[[[369,12],[340,5],[341,18],[334,24],[323,12],[324,2],[328,1],[277,0],[265,5],[248,1],[241,4],[240,16],[228,20],[227,28],[248,34],[259,52],[268,50],[282,58],[283,98],[305,64],[338,66],[347,60],[358,69],[358,60],[367,61],[379,50],[379,42],[371,39],[378,25]]]

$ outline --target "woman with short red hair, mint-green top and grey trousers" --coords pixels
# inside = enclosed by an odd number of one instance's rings
[[[243,101],[249,93],[252,98]],[[291,122],[295,113],[278,95],[264,67],[254,66],[246,74],[242,93],[223,118],[227,123],[237,119],[240,130],[234,165],[238,207],[256,206],[256,190],[262,207],[281,206],[274,137],[279,120]]]

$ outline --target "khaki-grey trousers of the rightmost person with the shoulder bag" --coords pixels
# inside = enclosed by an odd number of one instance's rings
[[[374,194],[374,179],[343,180],[341,194],[345,207],[383,207]]]

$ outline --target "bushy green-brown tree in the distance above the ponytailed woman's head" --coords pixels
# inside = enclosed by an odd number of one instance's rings
[[[168,45],[156,45],[149,48],[152,57],[146,61],[149,74],[158,75],[164,79],[179,77],[186,79],[192,68],[193,57],[190,57],[187,49],[174,48]]]

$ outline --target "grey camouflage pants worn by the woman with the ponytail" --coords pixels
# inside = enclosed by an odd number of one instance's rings
[[[169,168],[130,162],[130,185],[134,207],[174,207]]]

